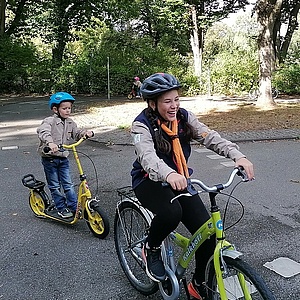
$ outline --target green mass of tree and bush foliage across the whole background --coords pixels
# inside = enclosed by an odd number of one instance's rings
[[[258,78],[257,22],[246,16],[233,28],[215,23],[246,0],[27,0],[20,19],[18,2],[8,2],[12,34],[0,40],[0,92],[107,95],[109,73],[111,95],[126,95],[134,76],[169,72],[185,95],[240,95]],[[193,3],[205,33],[201,78],[190,45]],[[281,91],[299,92],[299,56],[298,38],[274,76]]]

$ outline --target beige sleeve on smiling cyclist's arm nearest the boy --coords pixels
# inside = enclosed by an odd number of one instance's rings
[[[149,128],[141,122],[134,121],[131,127],[131,136],[137,161],[148,173],[149,178],[153,181],[166,181],[167,176],[175,171],[157,156]]]

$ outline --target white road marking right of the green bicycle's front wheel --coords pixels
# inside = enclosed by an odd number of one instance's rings
[[[271,262],[266,262],[263,266],[285,278],[289,278],[300,273],[300,264],[288,257],[276,258]]]

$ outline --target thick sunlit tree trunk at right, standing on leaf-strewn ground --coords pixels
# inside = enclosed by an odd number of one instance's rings
[[[275,68],[274,25],[283,0],[259,0],[256,3],[259,53],[259,96],[257,106],[268,109],[276,105],[272,98],[272,72]]]

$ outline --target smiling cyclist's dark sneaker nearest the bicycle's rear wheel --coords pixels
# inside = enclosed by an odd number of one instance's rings
[[[161,259],[160,248],[148,249],[144,245],[142,257],[146,265],[146,273],[153,281],[160,282],[166,279],[166,269]]]

